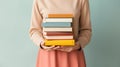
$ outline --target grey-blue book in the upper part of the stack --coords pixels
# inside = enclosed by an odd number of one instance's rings
[[[42,26],[43,27],[71,27],[71,23],[70,22],[43,22]]]

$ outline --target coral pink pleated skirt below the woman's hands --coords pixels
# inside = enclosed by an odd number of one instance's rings
[[[36,67],[86,67],[84,52],[46,51],[39,49]]]

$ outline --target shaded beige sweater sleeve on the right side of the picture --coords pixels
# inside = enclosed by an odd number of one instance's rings
[[[92,33],[88,0],[82,0],[80,14],[79,37],[77,42],[81,48],[84,48],[89,43]]]

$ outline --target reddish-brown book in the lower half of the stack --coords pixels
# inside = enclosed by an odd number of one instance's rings
[[[68,35],[73,35],[72,32],[44,32],[43,33],[45,36],[68,36]]]

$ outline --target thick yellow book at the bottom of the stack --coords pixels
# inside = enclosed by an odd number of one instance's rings
[[[59,46],[74,46],[75,42],[73,39],[71,40],[45,40],[46,46],[53,46],[53,45],[59,45]]]

